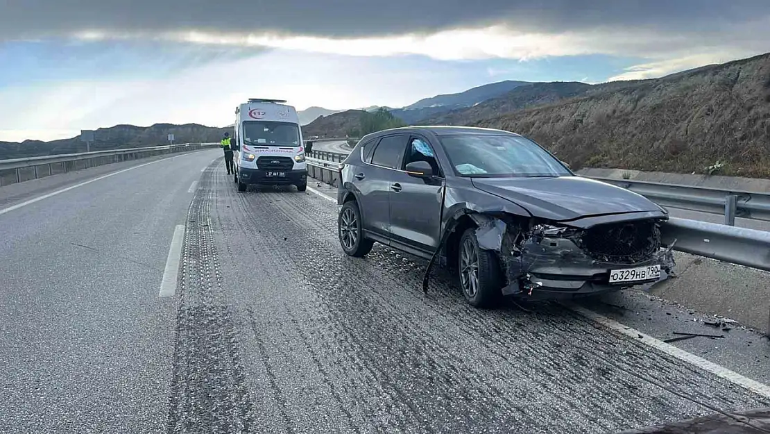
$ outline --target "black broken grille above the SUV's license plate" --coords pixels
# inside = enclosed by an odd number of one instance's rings
[[[633,264],[658,251],[661,231],[655,220],[601,224],[586,230],[583,245],[596,260]]]

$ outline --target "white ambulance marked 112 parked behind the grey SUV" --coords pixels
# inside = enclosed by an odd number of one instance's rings
[[[236,108],[231,140],[238,191],[261,185],[307,187],[307,164],[300,117],[284,99],[249,99]]]

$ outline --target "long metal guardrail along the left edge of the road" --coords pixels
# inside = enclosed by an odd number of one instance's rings
[[[49,156],[30,156],[0,160],[0,187],[22,183],[59,173],[83,170],[148,156],[202,150],[219,143],[181,143],[179,145],[146,146],[122,150],[101,150],[84,153],[64,153]]]

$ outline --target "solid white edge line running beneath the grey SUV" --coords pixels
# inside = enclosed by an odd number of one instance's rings
[[[326,194],[321,193],[320,191],[313,190],[310,187],[307,187],[307,190],[310,190],[313,193],[316,193],[317,195],[319,195],[320,197],[323,197],[327,200],[332,200],[333,202],[336,203],[336,199],[332,199],[330,196],[326,196]],[[599,324],[604,325],[604,327],[610,328],[611,330],[614,330],[614,331],[618,331],[621,334],[628,336],[629,338],[633,338],[634,341],[638,341],[644,345],[648,345],[652,348],[656,348],[661,352],[665,352],[668,355],[678,358],[682,362],[687,362],[691,365],[695,365],[698,368],[701,368],[706,372],[711,372],[711,374],[714,374],[720,378],[725,378],[725,380],[727,380],[728,382],[732,382],[735,385],[739,385],[745,389],[755,392],[757,395],[762,395],[765,398],[770,398],[770,386],[768,385],[764,385],[761,382],[758,382],[758,381],[752,380],[751,378],[740,375],[738,374],[738,372],[731,371],[730,369],[725,368],[724,366],[721,366],[721,365],[717,365],[714,362],[709,362],[705,358],[701,358],[690,352],[686,352],[685,350],[677,348],[674,345],[667,344],[664,341],[659,341],[658,339],[653,338],[650,335],[646,335],[641,331],[628,327],[628,325],[623,325],[618,321],[614,321],[610,318],[605,317],[604,315],[599,315],[598,313],[591,311],[587,308],[583,308],[581,306],[576,306],[572,304],[562,304],[562,305],[565,308],[568,308],[574,312],[577,312],[577,314],[579,315],[583,315],[585,318],[588,318],[591,321],[598,322]],[[640,335],[641,335],[641,338],[639,338]]]

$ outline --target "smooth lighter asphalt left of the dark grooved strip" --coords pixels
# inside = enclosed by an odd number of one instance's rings
[[[176,301],[158,297],[189,189],[221,151],[0,189],[0,432],[164,432]],[[133,167],[133,168],[132,168]]]

